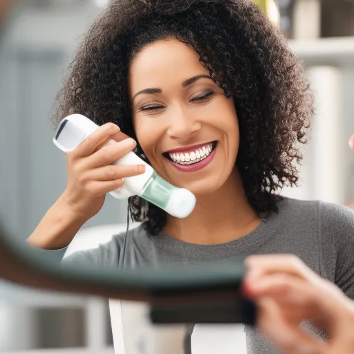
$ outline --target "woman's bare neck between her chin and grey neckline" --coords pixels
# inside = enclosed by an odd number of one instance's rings
[[[235,168],[221,189],[196,196],[196,207],[187,218],[167,216],[164,230],[189,243],[217,244],[245,236],[260,222],[248,203],[241,176]]]

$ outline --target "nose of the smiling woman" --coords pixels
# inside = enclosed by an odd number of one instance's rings
[[[187,111],[179,109],[174,115],[170,116],[169,128],[167,134],[171,139],[187,140],[192,138],[201,130],[201,122]]]

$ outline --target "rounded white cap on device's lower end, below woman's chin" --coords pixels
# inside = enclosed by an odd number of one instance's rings
[[[185,188],[176,188],[171,193],[169,203],[164,208],[167,213],[176,218],[185,218],[196,206],[196,197]]]

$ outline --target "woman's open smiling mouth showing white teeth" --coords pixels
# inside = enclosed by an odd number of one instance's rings
[[[175,162],[178,165],[195,165],[198,162],[201,162],[207,158],[210,153],[216,148],[218,145],[217,141],[208,142],[197,149],[190,150],[188,152],[180,151],[173,153],[163,153],[165,158]]]

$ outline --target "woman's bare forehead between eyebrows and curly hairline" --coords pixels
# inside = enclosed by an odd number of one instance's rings
[[[199,55],[177,39],[148,44],[136,55],[129,68],[131,94],[149,87],[178,84],[198,74],[209,74]]]

